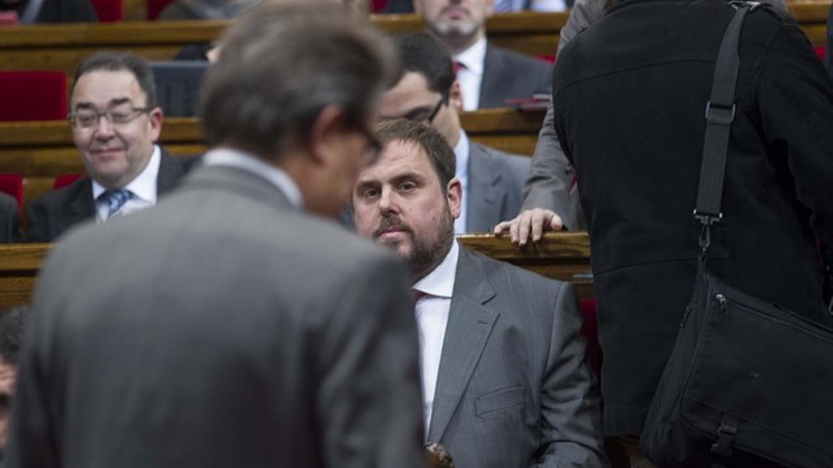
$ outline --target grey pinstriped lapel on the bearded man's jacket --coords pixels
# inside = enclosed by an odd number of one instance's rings
[[[451,416],[466,391],[498,314],[485,304],[495,296],[486,271],[476,256],[460,249],[454,292],[448,313],[440,370],[436,379],[434,406],[428,441],[440,442]]]

